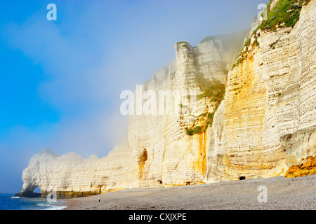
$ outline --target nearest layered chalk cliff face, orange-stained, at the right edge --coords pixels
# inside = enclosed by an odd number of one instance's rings
[[[260,48],[228,74],[228,177],[276,176],[315,155],[315,8],[303,7],[293,29],[259,29]]]

